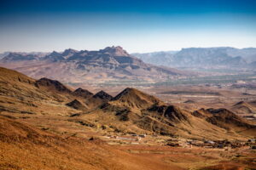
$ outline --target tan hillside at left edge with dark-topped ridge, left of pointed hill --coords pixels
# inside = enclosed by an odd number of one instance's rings
[[[96,98],[86,89],[73,90],[48,78],[35,80],[3,67],[0,67],[0,96],[0,111],[32,115],[72,115],[77,110],[66,104],[74,99],[84,101],[79,106],[80,109],[84,106],[83,110],[108,101]]]

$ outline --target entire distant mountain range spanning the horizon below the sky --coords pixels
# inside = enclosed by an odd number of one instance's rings
[[[196,75],[180,71],[182,69],[254,71],[256,68],[256,48],[183,48],[180,51],[128,54],[118,46],[98,51],[68,48],[52,53],[7,52],[0,58],[0,65],[30,77],[49,77],[67,83],[161,82]]]

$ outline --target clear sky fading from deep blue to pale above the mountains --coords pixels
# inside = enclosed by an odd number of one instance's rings
[[[256,47],[253,0],[2,0],[0,52]]]

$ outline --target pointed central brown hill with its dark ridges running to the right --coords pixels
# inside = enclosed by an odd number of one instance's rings
[[[109,132],[161,134],[194,139],[241,139],[253,137],[255,124],[231,111],[187,111],[166,105],[154,96],[134,88],[125,88],[94,111],[73,117]],[[93,120],[93,121],[92,121]],[[243,133],[241,133],[241,131]]]

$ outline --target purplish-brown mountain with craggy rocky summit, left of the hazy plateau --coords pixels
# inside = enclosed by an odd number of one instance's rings
[[[112,80],[159,81],[188,76],[184,71],[146,64],[121,47],[98,51],[66,49],[64,52],[9,53],[0,65],[34,78],[49,77],[62,82]]]

